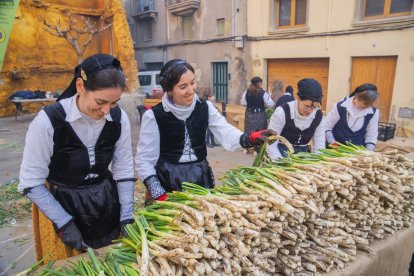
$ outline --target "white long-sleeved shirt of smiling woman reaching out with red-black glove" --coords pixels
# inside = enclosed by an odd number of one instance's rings
[[[239,149],[241,147],[240,136],[243,132],[230,125],[210,101],[206,102],[208,105],[209,116],[208,127],[213,132],[214,137],[226,150],[235,151]],[[185,137],[185,139],[189,139],[188,135],[185,135]],[[191,143],[189,141],[186,141],[184,144],[191,147]],[[157,163],[159,156],[160,132],[158,130],[157,120],[155,119],[154,112],[152,110],[147,110],[142,117],[137,154],[135,157],[135,166],[141,180],[145,180],[147,177],[156,174],[155,164]],[[191,149],[184,148],[180,162],[195,160],[197,160],[197,157],[194,155],[193,151]]]

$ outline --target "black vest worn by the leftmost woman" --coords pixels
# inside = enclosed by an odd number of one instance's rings
[[[121,109],[111,109],[112,122],[107,121],[95,145],[95,165],[90,166],[88,149],[76,135],[60,103],[44,108],[53,129],[53,155],[49,164],[47,180],[61,187],[93,186],[110,176],[108,169],[121,135]],[[89,174],[98,177],[85,179]]]

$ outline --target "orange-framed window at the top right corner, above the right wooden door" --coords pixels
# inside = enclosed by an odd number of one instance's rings
[[[364,19],[410,15],[413,0],[363,0]]]

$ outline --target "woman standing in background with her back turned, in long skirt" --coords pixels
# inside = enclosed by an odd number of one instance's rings
[[[274,105],[269,93],[262,89],[262,79],[253,77],[250,85],[243,93],[240,100],[242,106],[246,106],[244,115],[244,132],[267,128],[265,108]]]

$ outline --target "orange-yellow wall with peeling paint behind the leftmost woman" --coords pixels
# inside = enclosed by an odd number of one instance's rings
[[[83,58],[95,53],[116,56],[128,78],[128,91],[137,89],[137,65],[132,39],[121,0],[21,0],[0,72],[0,117],[14,114],[7,98],[17,90],[62,91],[73,77],[78,64],[77,54],[64,39],[45,31],[42,23],[61,28],[68,26],[68,13],[80,20],[80,15],[96,22],[112,24],[94,36]],[[84,42],[86,36],[81,36]],[[38,106],[31,106],[35,111]]]

